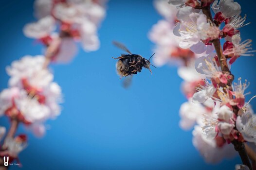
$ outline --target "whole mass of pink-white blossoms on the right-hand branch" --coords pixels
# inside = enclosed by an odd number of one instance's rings
[[[238,57],[254,52],[251,40],[241,42],[239,28],[247,24],[240,5],[234,0],[155,0],[154,4],[164,17],[148,34],[156,44],[154,63],[178,65],[184,80],[188,101],[180,108],[180,127],[194,127],[193,145],[209,163],[235,156],[230,145],[234,140],[255,146],[256,115],[245,102],[249,83],[241,78],[233,83],[229,71]],[[223,48],[215,49],[220,39]],[[221,68],[223,56],[228,70]]]

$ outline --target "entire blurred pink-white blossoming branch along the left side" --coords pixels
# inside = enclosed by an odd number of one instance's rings
[[[76,42],[85,51],[99,48],[97,29],[105,17],[105,4],[106,0],[35,0],[38,21],[26,24],[23,32],[45,46],[44,55],[12,62],[6,68],[8,87],[0,92],[0,117],[6,116],[11,124],[8,132],[0,126],[0,157],[8,156],[9,163],[19,163],[18,153],[27,146],[25,134],[16,136],[19,124],[43,136],[45,121],[60,114],[61,87],[48,65],[70,62],[78,50]]]

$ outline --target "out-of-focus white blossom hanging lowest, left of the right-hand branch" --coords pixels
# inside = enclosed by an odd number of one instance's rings
[[[208,163],[218,163],[223,158],[232,158],[237,154],[234,146],[228,145],[223,138],[209,139],[202,135],[202,129],[199,125],[195,126],[192,134],[193,145]]]

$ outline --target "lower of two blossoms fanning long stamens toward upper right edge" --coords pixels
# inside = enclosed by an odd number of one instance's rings
[[[251,39],[241,42],[241,37],[239,34],[233,35],[232,44],[230,43],[229,46],[226,46],[223,54],[230,57],[230,64],[233,64],[239,56],[252,56],[253,54],[251,54],[251,52],[255,51],[252,51],[252,48],[250,48],[251,42]]]

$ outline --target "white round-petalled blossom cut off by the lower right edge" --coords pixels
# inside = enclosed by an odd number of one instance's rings
[[[238,116],[236,126],[243,138],[248,142],[256,143],[256,115],[245,112],[242,116]]]

